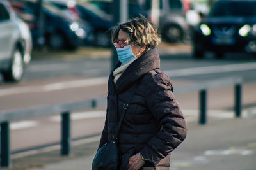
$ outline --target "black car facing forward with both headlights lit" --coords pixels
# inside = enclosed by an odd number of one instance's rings
[[[196,27],[193,36],[193,57],[227,52],[256,53],[256,1],[216,1],[209,15]]]

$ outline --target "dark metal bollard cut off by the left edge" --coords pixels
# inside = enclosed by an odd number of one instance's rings
[[[1,167],[10,166],[9,122],[1,122]]]

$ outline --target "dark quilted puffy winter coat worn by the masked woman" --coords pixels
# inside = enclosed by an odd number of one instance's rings
[[[113,71],[117,67],[120,62]],[[99,148],[113,138],[123,106],[139,83],[118,134],[120,169],[127,169],[129,157],[138,152],[147,160],[143,169],[169,169],[170,152],[186,137],[186,122],[173,96],[172,84],[159,67],[154,48],[134,60],[116,84],[113,71],[109,76],[107,115]]]

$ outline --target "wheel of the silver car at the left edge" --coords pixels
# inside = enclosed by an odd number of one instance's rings
[[[10,67],[7,71],[3,71],[4,81],[17,82],[22,79],[24,74],[24,62],[22,52],[19,48],[13,50]]]

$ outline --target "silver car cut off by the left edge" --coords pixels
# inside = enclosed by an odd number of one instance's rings
[[[0,71],[4,81],[22,79],[31,60],[31,34],[7,1],[0,1]]]

